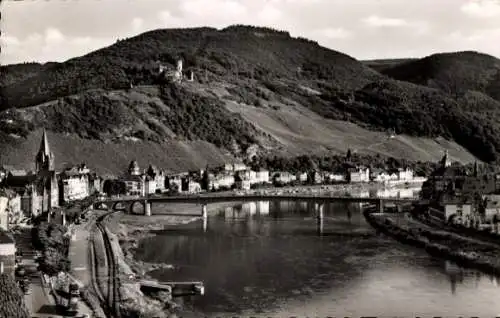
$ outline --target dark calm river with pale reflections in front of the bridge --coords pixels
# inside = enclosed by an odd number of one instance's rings
[[[497,280],[377,235],[358,204],[324,207],[322,235],[306,202],[251,202],[144,239],[136,257],[197,280],[182,316],[500,316]],[[186,315],[189,312],[189,315]]]

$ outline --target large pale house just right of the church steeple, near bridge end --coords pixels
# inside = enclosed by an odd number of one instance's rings
[[[66,168],[59,174],[59,185],[62,190],[62,201],[81,200],[90,195],[90,170],[82,163]]]

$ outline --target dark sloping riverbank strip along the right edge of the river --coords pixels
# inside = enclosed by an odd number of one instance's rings
[[[500,246],[483,240],[430,227],[401,215],[363,214],[377,231],[429,254],[455,261],[457,264],[500,275]]]

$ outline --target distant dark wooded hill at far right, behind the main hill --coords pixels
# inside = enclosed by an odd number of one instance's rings
[[[500,100],[500,60],[478,52],[440,53],[385,68],[382,73],[461,96],[479,91]]]

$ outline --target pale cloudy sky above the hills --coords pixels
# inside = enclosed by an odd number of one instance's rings
[[[475,50],[500,57],[500,0],[2,1],[0,63],[64,61],[142,32],[251,24],[357,59]]]

